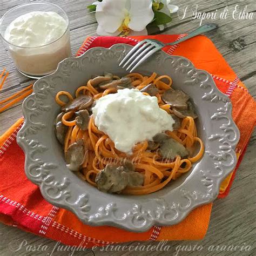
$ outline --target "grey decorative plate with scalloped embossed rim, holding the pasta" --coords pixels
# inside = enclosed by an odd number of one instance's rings
[[[143,232],[153,225],[177,224],[193,208],[217,197],[221,181],[236,164],[234,148],[239,130],[232,120],[230,100],[217,89],[211,75],[194,68],[184,57],[161,51],[137,72],[169,75],[173,87],[191,96],[199,116],[199,137],[205,144],[203,158],[163,190],[145,196],[103,193],[79,179],[66,168],[62,147],[55,138],[53,127],[60,111],[55,95],[61,90],[74,94],[95,73],[125,75],[118,63],[131,47],[116,44],[110,49],[92,48],[78,58],[63,60],[55,73],[39,79],[32,95],[24,100],[25,122],[17,142],[26,155],[26,176],[40,186],[51,204],[67,208],[85,224]]]

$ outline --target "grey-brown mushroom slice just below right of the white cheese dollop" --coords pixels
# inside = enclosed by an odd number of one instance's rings
[[[173,160],[177,156],[180,156],[181,158],[186,158],[188,156],[186,148],[165,133],[159,133],[154,136],[153,139],[154,142],[160,143],[159,151],[161,157],[164,159]]]

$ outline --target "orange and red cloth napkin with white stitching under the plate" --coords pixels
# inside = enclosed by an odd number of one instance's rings
[[[169,43],[183,36],[158,35],[148,38]],[[78,55],[96,46],[109,48],[115,43],[135,45],[138,40],[144,38],[89,37],[79,49]],[[236,149],[239,165],[256,122],[254,115],[256,103],[246,87],[210,39],[205,36],[197,36],[164,50],[171,55],[187,57],[196,68],[210,72],[218,88],[231,98],[233,118],[241,133]],[[197,240],[202,239],[206,234],[212,204],[196,208],[177,225],[154,226],[143,233],[133,233],[109,226],[84,225],[70,211],[52,206],[43,199],[39,188],[25,177],[24,154],[16,143],[16,134],[22,123],[23,119],[18,120],[0,137],[0,221],[6,225],[15,225],[25,231],[58,240],[64,244],[86,247],[136,240]],[[235,170],[221,185],[219,197],[227,195]]]

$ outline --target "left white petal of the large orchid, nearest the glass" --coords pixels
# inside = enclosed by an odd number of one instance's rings
[[[102,28],[109,33],[117,31],[122,24],[126,9],[126,0],[103,0],[96,6],[96,19]]]

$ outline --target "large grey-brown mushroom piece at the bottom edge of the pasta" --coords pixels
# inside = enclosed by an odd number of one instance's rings
[[[134,172],[134,167],[129,165],[106,165],[105,169],[96,176],[96,184],[99,190],[109,193],[120,193],[129,186],[140,186],[143,184],[144,176]]]

